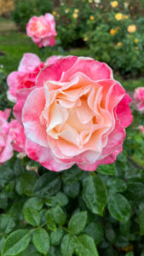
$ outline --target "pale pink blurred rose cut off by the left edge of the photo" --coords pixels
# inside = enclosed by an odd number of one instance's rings
[[[13,156],[12,138],[9,134],[9,119],[11,109],[0,110],[0,165]]]

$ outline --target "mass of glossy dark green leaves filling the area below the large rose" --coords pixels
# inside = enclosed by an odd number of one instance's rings
[[[135,112],[135,125],[144,117]],[[0,166],[2,256],[144,255],[144,137],[129,128],[124,151],[96,172]]]

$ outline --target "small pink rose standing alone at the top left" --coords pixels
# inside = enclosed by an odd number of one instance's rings
[[[39,48],[55,45],[54,16],[50,14],[40,17],[33,16],[26,25],[26,32]]]

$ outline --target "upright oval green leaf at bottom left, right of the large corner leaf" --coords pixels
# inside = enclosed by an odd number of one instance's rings
[[[49,251],[49,235],[44,229],[37,229],[33,233],[33,243],[39,253],[46,254]]]

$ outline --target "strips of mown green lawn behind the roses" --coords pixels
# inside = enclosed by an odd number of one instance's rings
[[[3,20],[0,20],[0,26]],[[0,65],[3,64],[7,74],[17,70],[22,55],[26,52],[37,54],[42,61],[45,61],[50,55],[61,55],[59,50],[47,47],[42,52],[36,44],[32,43],[32,39],[28,38],[25,33],[17,31],[9,31],[8,26],[6,31],[0,29]],[[89,56],[89,49],[71,49],[66,51],[65,55]],[[135,90],[136,87],[144,86],[144,78],[127,79],[116,77],[126,90]]]

